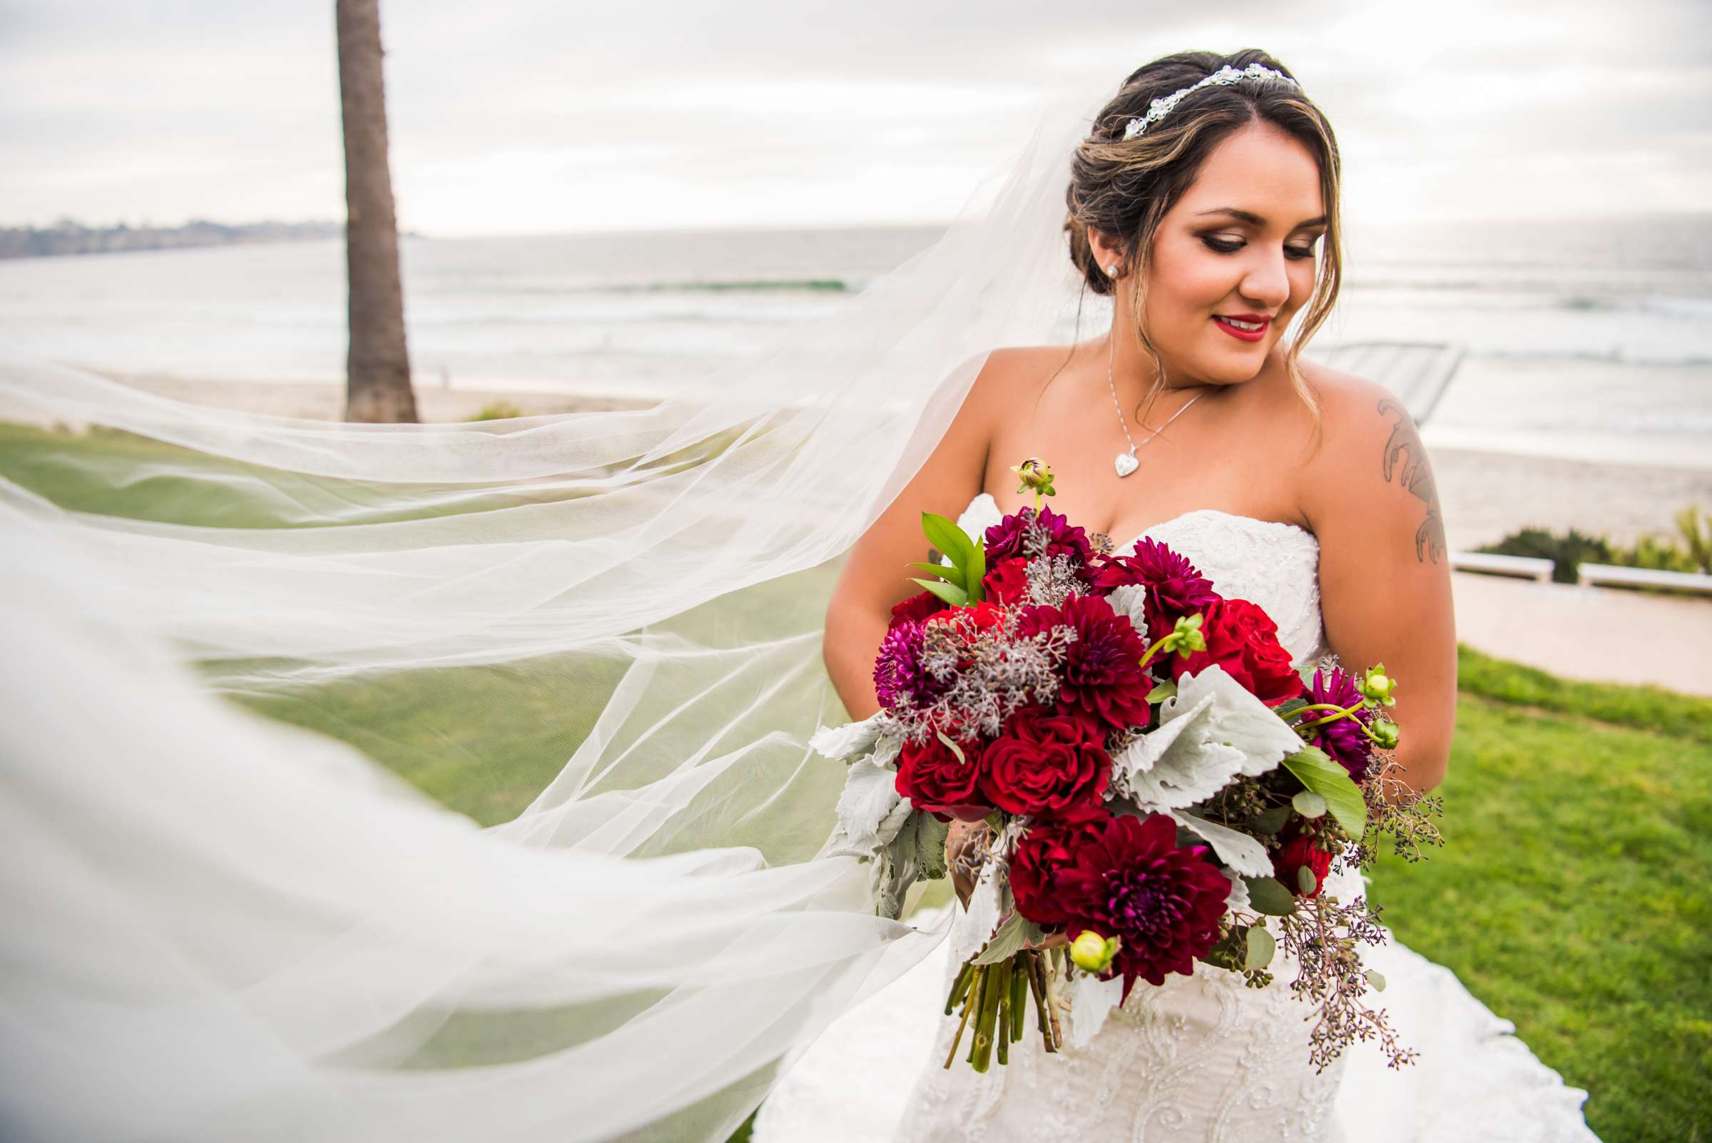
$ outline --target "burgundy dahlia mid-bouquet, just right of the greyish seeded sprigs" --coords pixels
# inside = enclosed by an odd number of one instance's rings
[[[1025,607],[1017,630],[1029,637],[1055,626],[1075,631],[1065,654],[1058,705],[1118,731],[1147,725],[1152,719],[1147,693],[1154,681],[1142,671],[1147,645],[1128,618],[1099,595],[1068,595],[1063,607]]]

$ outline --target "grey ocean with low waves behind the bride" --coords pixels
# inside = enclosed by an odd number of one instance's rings
[[[669,392],[938,234],[407,236],[414,378]],[[1712,467],[1712,214],[1351,228],[1337,310],[1305,352],[1356,341],[1462,347],[1433,445]],[[342,245],[5,260],[0,346],[118,375],[341,380]]]

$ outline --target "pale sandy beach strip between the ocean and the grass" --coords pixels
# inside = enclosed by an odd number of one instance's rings
[[[339,419],[344,383],[235,382],[163,373],[103,373],[132,388],[219,409],[315,421]],[[524,416],[645,409],[652,397],[597,397],[543,388],[416,385],[423,421],[467,421],[483,407],[510,402]],[[0,416],[5,416],[0,411]],[[1433,474],[1453,549],[1491,544],[1522,527],[1575,527],[1620,544],[1644,534],[1669,534],[1673,517],[1690,503],[1712,512],[1712,467],[1642,464],[1628,457],[1587,460],[1433,443]]]

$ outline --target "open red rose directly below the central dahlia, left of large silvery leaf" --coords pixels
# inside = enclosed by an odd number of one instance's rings
[[[981,792],[1005,813],[1060,814],[1099,801],[1111,777],[1104,731],[1065,710],[1024,707],[981,756]]]

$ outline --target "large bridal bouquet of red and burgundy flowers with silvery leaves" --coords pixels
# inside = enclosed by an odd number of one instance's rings
[[[1436,799],[1394,777],[1395,679],[1332,659],[1298,674],[1260,607],[1156,541],[1115,554],[1041,506],[1044,464],[1012,471],[1034,506],[984,537],[923,513],[942,561],[892,609],[880,710],[811,739],[849,763],[827,854],[873,862],[885,915],[947,874],[952,820],[990,826],[964,868],[988,936],[945,1001],[962,1010],[945,1066],[971,1025],[974,1069],[1007,1063],[1029,1008],[1044,1051],[1063,1011],[1085,1045],[1137,980],[1197,960],[1270,986],[1281,948],[1318,1008],[1310,1063],[1373,1037],[1409,1063],[1364,1003],[1383,989],[1358,951],[1383,941],[1376,910],[1322,893],[1380,833],[1411,861],[1440,842]]]

